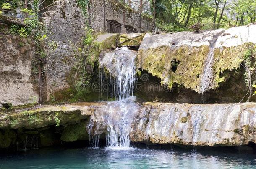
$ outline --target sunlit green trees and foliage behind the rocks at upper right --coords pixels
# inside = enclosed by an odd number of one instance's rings
[[[155,0],[157,27],[171,32],[196,23],[203,30],[248,25],[256,22],[255,9],[255,0]]]

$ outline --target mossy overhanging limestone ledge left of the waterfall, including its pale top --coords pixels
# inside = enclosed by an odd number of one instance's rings
[[[77,104],[41,106],[0,115],[0,129],[38,129],[45,126],[67,126],[88,119],[94,108]]]

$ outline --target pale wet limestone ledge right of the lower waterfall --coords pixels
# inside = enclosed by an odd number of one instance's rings
[[[134,118],[133,142],[240,146],[256,141],[256,103],[144,103]]]

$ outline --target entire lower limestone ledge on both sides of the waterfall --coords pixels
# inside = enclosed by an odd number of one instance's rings
[[[51,145],[48,135],[55,137],[56,133],[60,134],[58,139],[65,142],[89,140],[88,133],[104,136],[107,132],[106,117],[120,114],[120,107],[113,107],[112,103],[42,106],[1,114],[0,148],[15,145],[15,141],[21,138],[20,132],[39,135],[42,145]],[[107,111],[109,107],[111,111]],[[129,103],[128,107],[131,109],[128,116],[131,118],[132,142],[192,146],[241,146],[256,142],[256,103],[147,102]]]

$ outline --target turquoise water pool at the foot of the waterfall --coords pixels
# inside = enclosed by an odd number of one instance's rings
[[[1,155],[1,169],[246,169],[256,155],[184,149],[46,148]]]

